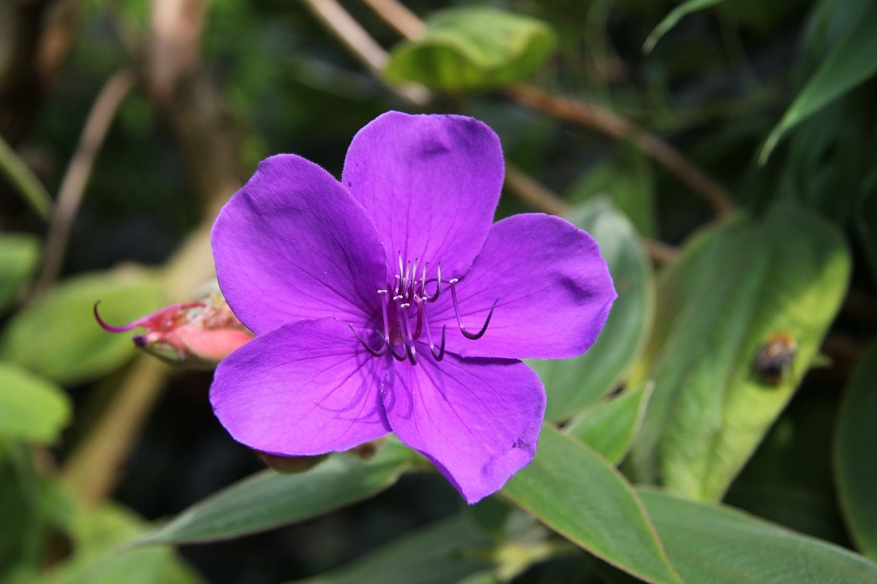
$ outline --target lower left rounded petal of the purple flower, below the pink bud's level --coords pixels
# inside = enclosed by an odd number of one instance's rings
[[[239,442],[282,456],[343,451],[389,432],[386,360],[347,324],[302,320],[254,338],[219,363],[210,402]]]

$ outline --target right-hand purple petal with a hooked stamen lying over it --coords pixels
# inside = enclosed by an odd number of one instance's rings
[[[447,324],[447,350],[464,357],[567,359],[594,344],[616,292],[594,239],[560,217],[515,215],[494,224],[481,253],[457,284],[460,315],[479,331],[464,338],[451,295],[429,313],[433,331]]]

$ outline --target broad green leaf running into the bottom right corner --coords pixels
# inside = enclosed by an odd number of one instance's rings
[[[687,582],[873,582],[877,566],[737,509],[644,489],[639,496]]]

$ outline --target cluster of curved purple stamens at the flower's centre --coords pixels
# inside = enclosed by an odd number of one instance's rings
[[[442,280],[441,262],[436,268],[435,278],[426,278],[426,268],[428,262],[424,262],[423,267],[418,265],[418,259],[414,262],[403,262],[402,253],[399,253],[399,273],[394,277],[394,281],[387,285],[387,288],[381,288],[377,294],[381,302],[381,317],[383,320],[383,330],[376,331],[381,335],[381,347],[374,349],[363,340],[353,324],[350,325],[353,334],[359,339],[362,346],[366,348],[368,353],[375,357],[380,357],[384,353],[393,355],[394,359],[403,361],[410,360],[412,365],[417,365],[417,346],[415,341],[425,336],[426,342],[430,346],[430,352],[435,360],[440,361],[445,358],[445,331],[446,326],[442,326],[441,343],[437,347],[432,341],[430,324],[426,317],[426,307],[439,300],[442,291],[442,284],[447,284],[451,288],[451,299],[453,302],[453,310],[457,317],[457,324],[460,326],[460,332],[466,338],[477,340],[484,336],[490,324],[490,317],[493,317],[493,311],[496,309],[497,298],[493,306],[490,307],[488,317],[484,320],[481,330],[478,332],[468,331],[463,326],[463,319],[460,316],[460,303],[457,301],[457,278],[451,280]],[[420,276],[417,276],[417,269],[421,268]],[[430,290],[430,291],[428,291]]]

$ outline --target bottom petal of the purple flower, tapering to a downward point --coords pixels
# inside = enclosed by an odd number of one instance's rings
[[[521,361],[422,357],[390,370],[383,391],[396,436],[467,502],[502,488],[536,452],[545,389]]]

